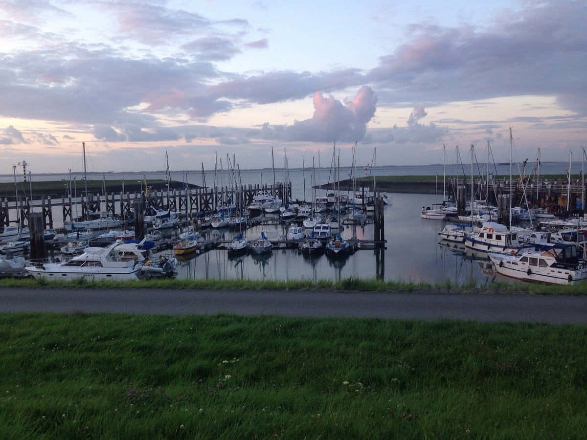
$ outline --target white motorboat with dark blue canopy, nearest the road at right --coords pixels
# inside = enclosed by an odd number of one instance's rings
[[[544,251],[490,253],[489,258],[498,273],[523,281],[569,285],[587,279],[587,262],[577,258],[575,245],[555,243]]]

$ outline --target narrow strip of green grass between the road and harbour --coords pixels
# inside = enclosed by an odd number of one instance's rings
[[[19,287],[45,288],[63,287],[69,289],[218,289],[218,290],[340,290],[361,292],[431,292],[431,293],[470,293],[501,294],[526,293],[529,295],[585,295],[587,282],[572,286],[548,286],[532,283],[491,282],[478,284],[471,282],[459,285],[449,279],[439,283],[414,283],[394,280],[360,279],[348,277],[340,281],[318,280],[218,280],[218,279],[149,279],[139,281],[93,281],[79,279],[74,281],[45,280],[26,278],[0,279],[0,289]]]

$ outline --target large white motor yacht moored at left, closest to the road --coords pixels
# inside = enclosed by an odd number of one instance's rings
[[[25,270],[32,276],[48,279],[95,280],[136,280],[141,274],[142,263],[134,260],[122,260],[114,248],[114,242],[106,248],[86,248],[82,255],[77,255],[66,262],[31,263]]]

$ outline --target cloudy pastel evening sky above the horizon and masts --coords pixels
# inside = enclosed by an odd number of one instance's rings
[[[0,0],[0,174],[581,160],[584,1]],[[324,158],[327,158],[326,160]]]

